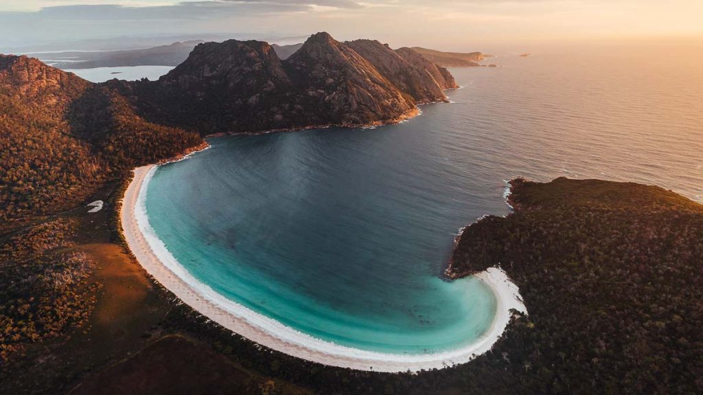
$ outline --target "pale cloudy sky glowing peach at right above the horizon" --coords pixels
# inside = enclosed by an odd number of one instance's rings
[[[703,38],[703,0],[0,0],[0,50],[119,36],[330,32],[392,46],[485,50]]]

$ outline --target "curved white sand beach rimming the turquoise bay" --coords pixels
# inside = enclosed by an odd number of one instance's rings
[[[510,310],[527,312],[517,287],[499,268],[489,268],[478,278],[496,295],[496,315],[477,342],[437,354],[385,354],[340,346],[306,335],[232,302],[195,279],[169,253],[148,223],[146,186],[156,165],[134,170],[121,209],[124,237],[139,263],[176,297],[233,332],[271,349],[308,361],[357,370],[417,372],[465,363],[489,351],[510,320]]]

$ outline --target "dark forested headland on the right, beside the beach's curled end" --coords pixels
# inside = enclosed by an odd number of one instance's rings
[[[703,391],[702,205],[652,186],[563,178],[512,181],[510,203],[508,217],[465,229],[449,273],[500,264],[529,317],[462,369],[466,390]]]

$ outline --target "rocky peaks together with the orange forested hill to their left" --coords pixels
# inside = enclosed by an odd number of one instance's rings
[[[399,122],[456,87],[410,48],[327,33],[285,60],[263,41],[198,44],[154,82],[93,84],[0,56],[0,174],[11,175],[0,185],[0,219],[53,212],[112,172],[179,155],[202,136]]]

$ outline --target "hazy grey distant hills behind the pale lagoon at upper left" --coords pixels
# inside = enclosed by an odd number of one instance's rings
[[[37,57],[60,69],[143,65],[176,66],[186,60],[193,48],[202,42],[204,41],[184,41],[129,51],[39,53]]]

